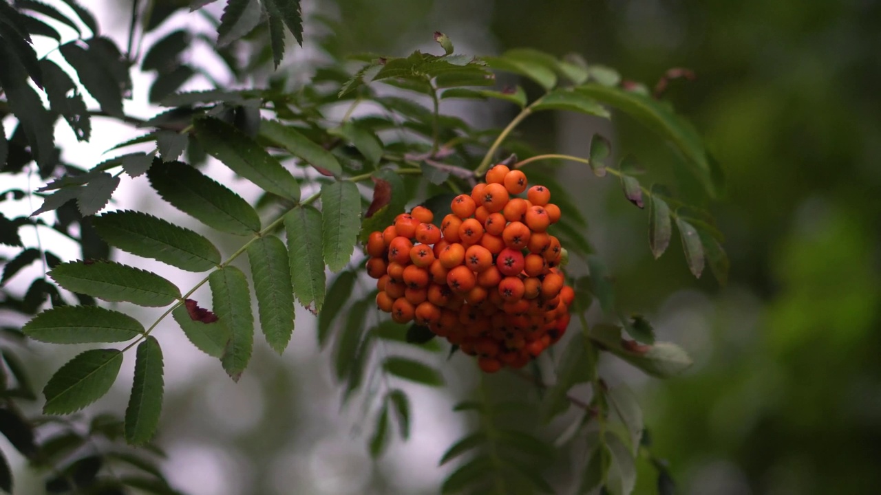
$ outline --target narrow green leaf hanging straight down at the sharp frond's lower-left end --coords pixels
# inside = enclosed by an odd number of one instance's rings
[[[135,380],[131,386],[129,407],[125,410],[125,440],[131,445],[150,441],[159,426],[162,412],[162,349],[148,336],[137,346]]]

